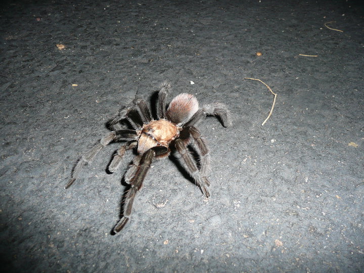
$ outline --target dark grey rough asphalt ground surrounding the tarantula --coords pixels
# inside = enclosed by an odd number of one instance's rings
[[[0,10],[8,270],[363,271],[363,6],[8,1]],[[273,96],[244,77],[278,94],[263,126]],[[234,115],[230,128],[213,117],[199,125],[211,198],[171,160],[156,161],[130,222],[112,236],[132,153],[108,174],[119,147],[110,145],[63,187],[118,109],[135,93],[150,103],[163,80],[168,100],[192,93]]]

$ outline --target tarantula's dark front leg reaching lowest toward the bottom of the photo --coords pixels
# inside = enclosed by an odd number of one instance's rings
[[[115,225],[114,233],[121,231],[129,220],[135,194],[142,188],[144,178],[156,156],[168,153],[165,146],[156,146],[149,149],[138,159],[138,167],[133,170],[133,176],[130,178],[130,189],[126,192],[123,205],[123,216]],[[136,162],[134,162],[135,164]]]

